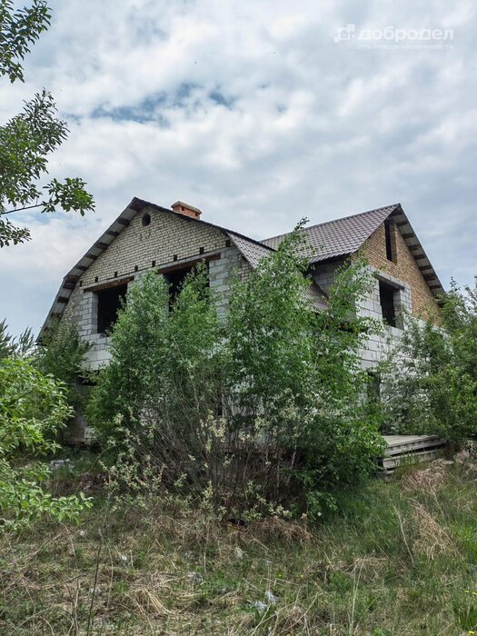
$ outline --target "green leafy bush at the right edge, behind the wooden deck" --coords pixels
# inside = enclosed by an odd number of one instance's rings
[[[456,445],[477,436],[477,286],[455,283],[438,316],[407,317],[393,352],[401,373],[383,373],[391,432],[441,435]],[[393,367],[394,369],[395,367]]]

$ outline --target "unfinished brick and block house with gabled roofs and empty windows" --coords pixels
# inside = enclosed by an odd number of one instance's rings
[[[134,198],[65,275],[42,332],[57,318],[75,323],[80,336],[92,345],[86,353],[87,362],[98,369],[108,361],[107,334],[128,285],[154,269],[164,275],[174,293],[200,261],[208,266],[211,287],[221,293],[219,311],[226,311],[226,294],[234,271],[246,276],[285,234],[259,242],[200,217],[200,210],[182,202],[167,209]],[[334,271],[350,254],[361,250],[371,264],[375,285],[360,311],[383,319],[387,332],[371,339],[363,349],[363,365],[373,369],[386,350],[389,336],[395,338],[402,333],[402,308],[419,315],[437,306],[442,285],[422,244],[401,204],[303,231],[312,254],[311,293],[318,308],[326,303]],[[75,442],[84,442],[87,436],[86,423],[80,423],[73,435]]]

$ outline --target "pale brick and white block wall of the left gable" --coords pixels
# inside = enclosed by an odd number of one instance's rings
[[[234,272],[243,277],[251,269],[221,230],[192,224],[179,214],[161,214],[154,209],[146,212],[151,215],[151,223],[144,227],[143,214],[137,214],[129,227],[81,276],[65,308],[64,320],[75,323],[80,337],[91,344],[84,358],[92,370],[99,369],[111,358],[110,338],[97,333],[95,285],[132,278],[133,281],[128,282],[131,285],[151,269],[180,264],[186,266],[198,259],[214,256],[209,262],[210,285],[217,294],[219,313],[224,314]]]

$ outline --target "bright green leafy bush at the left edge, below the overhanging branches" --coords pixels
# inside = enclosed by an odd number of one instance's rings
[[[55,498],[51,476],[38,458],[58,449],[55,435],[71,409],[64,385],[28,360],[0,360],[0,525],[19,529],[44,515],[76,520],[91,504],[82,494]]]

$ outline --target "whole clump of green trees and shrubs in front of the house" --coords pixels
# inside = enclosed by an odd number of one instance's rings
[[[314,515],[373,469],[382,438],[358,348],[374,324],[355,312],[369,273],[347,263],[317,314],[302,240],[298,227],[235,280],[223,321],[204,267],[171,311],[162,277],[132,286],[87,410],[127,488]]]

